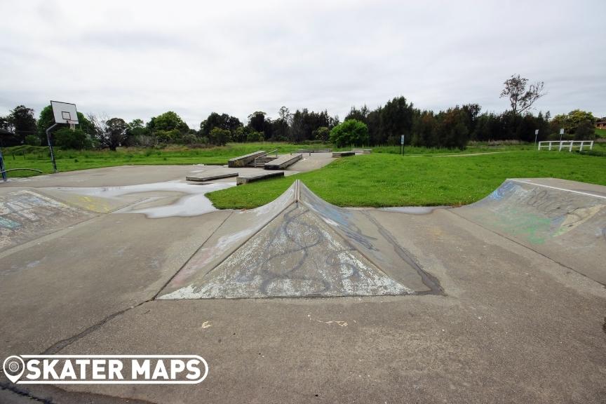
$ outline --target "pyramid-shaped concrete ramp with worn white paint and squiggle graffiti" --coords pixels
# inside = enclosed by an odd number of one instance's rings
[[[332,206],[297,180],[275,201],[232,213],[158,298],[440,293],[390,237],[363,211]]]

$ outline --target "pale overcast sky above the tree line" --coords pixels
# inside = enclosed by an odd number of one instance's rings
[[[0,115],[48,100],[198,128],[285,105],[501,112],[503,81],[544,81],[537,111],[606,116],[606,1],[0,0]]]

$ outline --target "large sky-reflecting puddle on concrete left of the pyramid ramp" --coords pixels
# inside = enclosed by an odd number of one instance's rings
[[[156,219],[159,217],[174,217],[174,216],[198,216],[203,213],[217,210],[206,197],[208,192],[217,191],[235,187],[236,182],[219,182],[212,184],[187,184],[180,181],[154,182],[152,184],[137,184],[127,185],[124,187],[57,187],[58,191],[72,192],[74,194],[97,196],[100,198],[120,199],[122,196],[130,196],[134,194],[143,194],[154,192],[177,192],[184,194],[172,203],[161,205],[161,199],[166,198],[166,195],[150,196],[143,201],[129,205],[126,208],[116,210],[115,213],[142,213],[147,217]],[[144,203],[150,201],[160,201],[159,206],[137,209]]]

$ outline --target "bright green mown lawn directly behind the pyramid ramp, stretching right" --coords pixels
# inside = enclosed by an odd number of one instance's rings
[[[295,179],[337,206],[456,206],[478,201],[506,178],[558,177],[606,185],[606,158],[569,152],[509,152],[466,157],[368,154],[320,170],[208,194],[217,208],[255,208]]]

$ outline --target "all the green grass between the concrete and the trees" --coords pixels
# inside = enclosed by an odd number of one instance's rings
[[[242,154],[278,149],[288,153],[325,144],[288,143],[228,144],[225,147],[119,149],[109,151],[58,150],[60,171],[130,164],[225,164]],[[559,177],[606,185],[606,144],[595,144],[594,155],[537,152],[532,144],[470,144],[465,150],[373,147],[370,155],[339,159],[329,166],[278,180],[268,180],[213,192],[217,208],[254,208],[276,198],[296,178],[330,203],[338,206],[436,206],[460,205],[483,198],[511,177]],[[13,147],[3,150],[6,168],[36,168],[51,173],[46,147]],[[459,154],[476,156],[451,156]],[[35,175],[27,171],[9,176]]]

